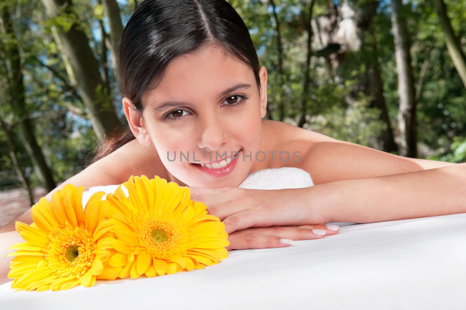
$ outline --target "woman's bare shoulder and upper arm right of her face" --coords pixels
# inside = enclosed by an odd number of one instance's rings
[[[386,176],[454,165],[393,155],[359,144],[340,141],[279,121],[264,122],[264,135],[270,147],[292,154],[299,161],[274,161],[267,168],[296,167],[307,171],[315,184],[348,179]]]

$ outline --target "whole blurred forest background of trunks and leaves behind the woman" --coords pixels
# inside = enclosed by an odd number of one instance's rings
[[[229,0],[268,118],[393,154],[466,159],[466,1]],[[48,191],[125,125],[117,42],[140,1],[2,0],[0,190]]]

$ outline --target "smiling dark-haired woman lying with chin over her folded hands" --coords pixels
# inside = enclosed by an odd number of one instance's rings
[[[190,186],[225,223],[229,250],[324,238],[338,232],[328,222],[466,211],[465,164],[404,158],[262,120],[267,70],[226,1],[145,0],[125,26],[119,52],[130,133],[107,142],[62,185],[88,190],[144,174]],[[315,186],[238,188],[248,174],[279,167],[308,171]],[[17,220],[30,224],[30,211]],[[1,231],[9,232],[1,247],[21,240],[14,222]]]

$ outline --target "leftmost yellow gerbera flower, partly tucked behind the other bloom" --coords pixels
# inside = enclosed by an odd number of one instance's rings
[[[17,243],[8,256],[11,287],[38,291],[93,286],[96,279],[116,279],[121,268],[106,261],[112,255],[113,222],[105,218],[110,203],[96,192],[82,210],[82,186],[65,185],[52,201],[42,197],[31,209],[34,223],[16,222],[16,231],[26,242]]]

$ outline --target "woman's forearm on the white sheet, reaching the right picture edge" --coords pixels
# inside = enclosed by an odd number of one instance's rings
[[[324,223],[371,223],[466,212],[466,163],[310,188]],[[312,200],[311,200],[312,201]]]

